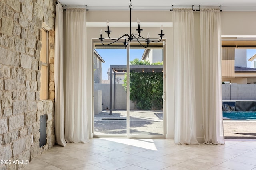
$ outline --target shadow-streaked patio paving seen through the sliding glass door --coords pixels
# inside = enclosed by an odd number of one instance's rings
[[[94,115],[94,134],[126,134],[126,110],[104,110]],[[163,112],[130,110],[130,134],[162,135]]]

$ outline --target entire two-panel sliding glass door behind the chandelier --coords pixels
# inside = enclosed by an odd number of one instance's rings
[[[163,42],[95,45],[94,136],[164,137],[164,60]]]

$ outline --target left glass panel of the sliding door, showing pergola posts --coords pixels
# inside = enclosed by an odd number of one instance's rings
[[[94,135],[125,135],[126,49],[94,49]]]

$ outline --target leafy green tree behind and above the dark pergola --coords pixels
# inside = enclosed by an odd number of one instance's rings
[[[131,65],[162,65],[162,62],[152,63],[134,59]],[[127,76],[123,84],[127,86]],[[136,103],[136,109],[162,109],[163,101],[163,73],[162,72],[130,72],[130,100]]]

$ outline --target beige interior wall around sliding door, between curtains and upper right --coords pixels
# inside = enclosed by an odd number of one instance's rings
[[[127,17],[126,17],[127,16]],[[256,35],[255,20],[256,12],[221,12],[222,35],[226,36],[241,36],[241,35]],[[139,18],[141,22],[172,22],[172,12],[170,11],[134,11],[132,13],[132,21],[136,22]],[[90,11],[87,13],[88,22],[128,22],[129,12],[123,11]],[[203,141],[204,134],[200,130],[202,124],[202,72],[201,72],[201,53],[200,53],[200,16],[199,12],[194,12],[195,22],[195,82],[196,82],[196,133],[199,141]],[[239,23],[239,24],[238,24]],[[141,25],[143,27],[143,25]],[[244,29],[246,27],[246,29]],[[87,43],[88,43],[88,56],[92,56],[92,39],[98,39],[100,36],[100,29],[105,30],[106,27],[88,27],[87,29]],[[135,30],[136,28],[134,28]],[[143,36],[150,32],[150,37],[156,38],[159,32],[159,27],[143,28]],[[128,33],[129,28],[111,28],[113,37],[119,37],[124,33]],[[164,27],[164,38],[166,38],[166,137],[174,137],[174,69],[173,69],[173,35],[172,27]],[[88,57],[87,66],[88,72],[92,70],[92,57]],[[92,77],[88,76],[88,82]],[[92,91],[92,86],[88,86],[88,91]],[[91,100],[92,95],[88,96]],[[89,100],[88,99],[88,100]],[[90,104],[89,104],[90,106]],[[92,108],[88,108],[88,113],[92,113]],[[92,117],[89,117],[92,119]],[[91,129],[92,131],[92,129]]]

